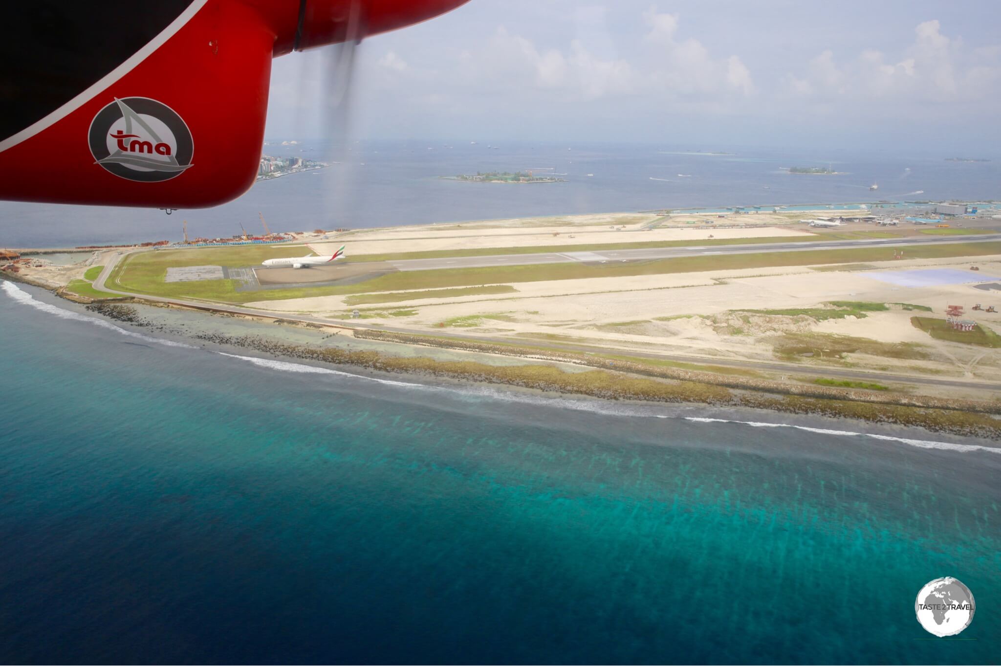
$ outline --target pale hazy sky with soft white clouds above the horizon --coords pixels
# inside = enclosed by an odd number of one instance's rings
[[[996,1],[471,0],[366,40],[361,138],[1001,148]],[[322,50],[274,61],[267,134],[324,133]]]

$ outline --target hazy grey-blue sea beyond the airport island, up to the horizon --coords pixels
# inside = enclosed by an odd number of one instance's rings
[[[192,237],[239,234],[241,224],[260,233],[258,212],[272,230],[312,230],[662,208],[1001,199],[1001,156],[930,153],[919,142],[901,151],[526,142],[487,147],[482,138],[475,144],[359,141],[350,150],[329,142],[276,143],[264,146],[265,154],[338,163],[258,182],[222,206],[169,216],[140,208],[0,202],[0,247],[180,240],[184,219]],[[955,156],[993,159],[945,159]],[[196,169],[197,153],[194,164]],[[792,175],[781,168],[790,166],[830,166],[843,174]],[[567,182],[506,186],[439,177],[520,169],[561,174]],[[873,183],[877,191],[870,191]]]

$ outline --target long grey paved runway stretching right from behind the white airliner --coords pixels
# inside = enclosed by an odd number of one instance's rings
[[[439,268],[481,268],[483,266],[533,265],[540,263],[601,263],[609,261],[645,261],[681,256],[714,254],[752,254],[758,252],[797,252],[813,249],[851,249],[854,247],[906,247],[927,243],[945,244],[1001,240],[1001,233],[978,233],[962,236],[919,236],[911,238],[865,238],[860,240],[819,240],[799,242],[758,243],[753,245],[710,245],[655,247],[641,249],[610,249],[593,252],[540,252],[536,254],[496,254],[490,256],[452,256],[434,259],[404,259],[387,261],[397,270],[435,270]],[[358,264],[362,265],[362,264]]]

